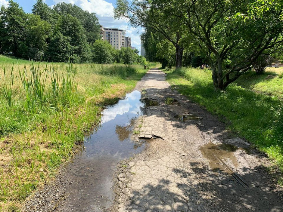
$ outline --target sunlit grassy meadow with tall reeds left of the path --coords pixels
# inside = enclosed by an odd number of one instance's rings
[[[146,73],[143,68],[46,67],[0,55],[0,211],[18,211],[33,190],[53,177],[99,124],[103,106],[131,91]],[[11,91],[11,104],[5,90]]]

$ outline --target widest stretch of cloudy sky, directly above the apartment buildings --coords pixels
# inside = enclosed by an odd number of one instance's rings
[[[0,0],[0,2],[1,1],[5,1],[5,0]],[[99,23],[102,26],[125,29],[127,31],[126,36],[132,38],[132,47],[135,47],[139,51],[141,51],[141,47],[140,47],[141,41],[138,30],[135,29],[134,27],[128,26],[128,22],[125,19],[115,20],[113,18],[114,6],[112,3],[109,3],[105,0],[53,0],[53,2],[55,4],[59,2],[75,4],[81,7],[83,10],[87,10],[91,13],[95,13],[99,19]]]

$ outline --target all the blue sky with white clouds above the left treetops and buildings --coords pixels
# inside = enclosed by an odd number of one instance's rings
[[[14,2],[17,2],[25,12],[31,13],[36,0],[14,0]],[[125,29],[127,31],[126,36],[132,38],[132,47],[141,51],[141,29],[138,30],[129,26],[126,20],[113,19],[113,9],[116,6],[116,0],[45,0],[45,3],[51,7],[59,2],[72,3],[81,7],[83,10],[96,13],[99,23],[104,27]],[[7,6],[8,1],[0,0],[1,5]]]

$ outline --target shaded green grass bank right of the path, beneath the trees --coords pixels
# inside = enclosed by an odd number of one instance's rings
[[[173,88],[222,117],[230,131],[266,152],[283,171],[281,100],[242,88],[236,83],[229,85],[226,91],[217,91],[213,88],[208,69],[182,68],[165,72]]]

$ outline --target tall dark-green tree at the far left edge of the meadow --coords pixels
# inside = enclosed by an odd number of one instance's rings
[[[13,0],[9,0],[7,8],[1,8],[2,41],[4,43],[2,51],[11,51],[14,56],[21,56],[25,49],[25,26],[26,14],[23,8]]]

